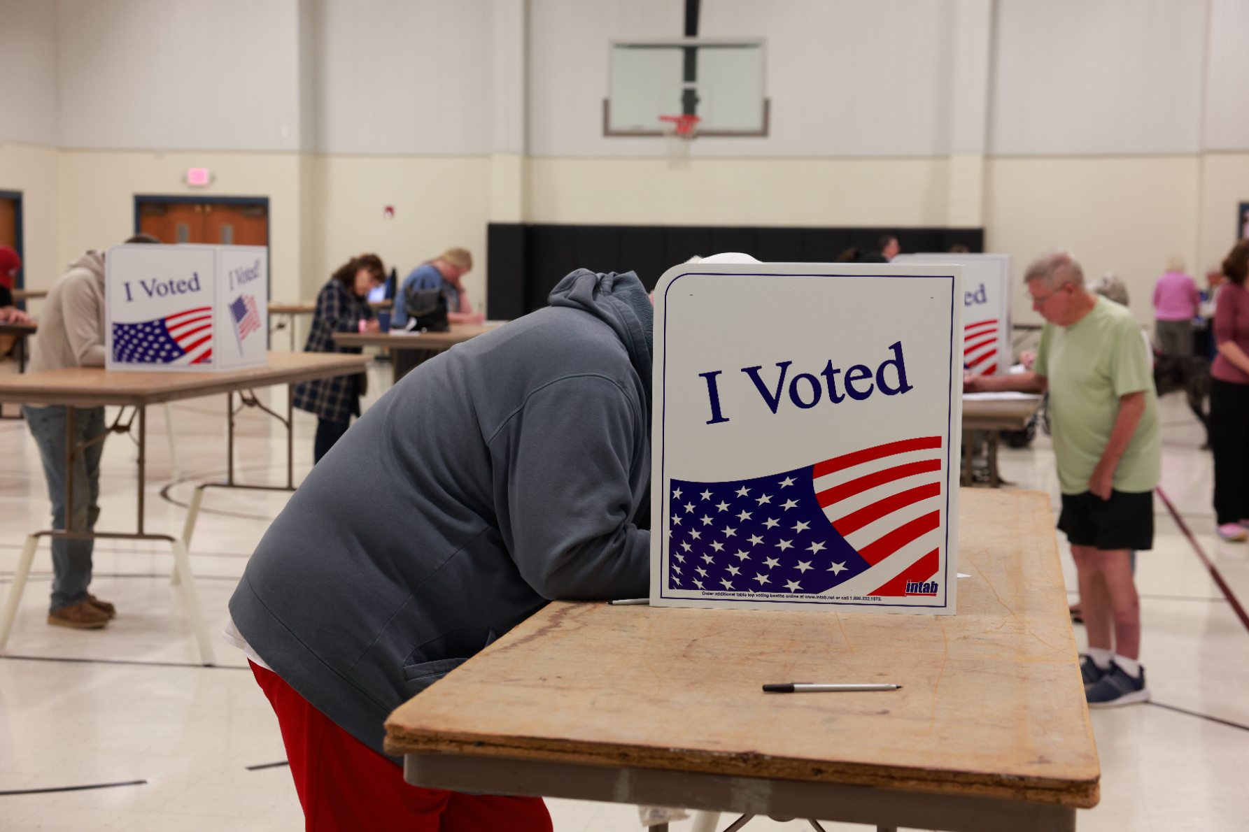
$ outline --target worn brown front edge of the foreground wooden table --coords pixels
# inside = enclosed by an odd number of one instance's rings
[[[515,737],[505,743],[496,736],[420,731],[402,728],[390,721],[386,722],[385,750],[393,756],[456,753],[492,758],[548,760],[600,767],[658,768],[731,777],[871,786],[940,795],[998,797],[1067,808],[1092,808],[1100,800],[1100,775],[1080,781],[994,776],[766,755],[717,755],[648,746],[621,748],[617,745],[568,742],[543,737]],[[766,772],[762,771],[764,765]]]

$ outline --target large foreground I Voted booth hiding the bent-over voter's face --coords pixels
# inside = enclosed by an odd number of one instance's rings
[[[664,273],[652,605],[955,611],[963,291],[957,264]]]

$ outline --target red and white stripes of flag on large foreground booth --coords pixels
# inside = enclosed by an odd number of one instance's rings
[[[824,595],[903,595],[906,581],[936,574],[942,465],[940,437],[891,442],[814,465],[824,516],[871,564]]]

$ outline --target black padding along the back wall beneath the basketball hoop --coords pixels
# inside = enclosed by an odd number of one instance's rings
[[[746,228],[727,226],[557,226],[490,223],[490,317],[518,318],[547,304],[551,289],[577,268],[637,272],[653,288],[668,268],[694,254],[738,251],[772,263],[831,263],[851,247],[874,251],[894,235],[904,252],[945,252],[960,243],[984,251],[983,228]]]

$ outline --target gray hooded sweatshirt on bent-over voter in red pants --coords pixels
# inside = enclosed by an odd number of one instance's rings
[[[648,591],[651,324],[632,272],[421,364],[312,469],[230,600],[251,647],[381,752],[390,712],[555,599]]]

